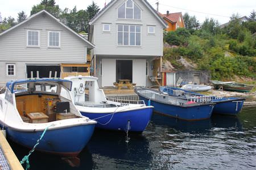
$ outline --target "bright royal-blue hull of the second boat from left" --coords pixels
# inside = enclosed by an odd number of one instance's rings
[[[153,108],[135,109],[117,113],[90,113],[80,111],[83,116],[96,120],[96,128],[142,132],[150,122]]]

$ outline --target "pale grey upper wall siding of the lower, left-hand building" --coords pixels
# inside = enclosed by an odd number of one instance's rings
[[[27,30],[40,31],[40,47],[27,47]],[[48,48],[48,31],[60,31],[60,48]],[[0,61],[85,63],[86,42],[48,15],[20,25],[0,37]]]

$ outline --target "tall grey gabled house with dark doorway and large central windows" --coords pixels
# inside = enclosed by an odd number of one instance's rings
[[[102,87],[119,79],[151,86],[154,59],[163,56],[164,20],[146,0],[112,0],[90,20],[94,76]]]

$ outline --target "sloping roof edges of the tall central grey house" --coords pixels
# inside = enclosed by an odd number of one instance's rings
[[[102,8],[101,11],[99,11],[96,15],[94,15],[94,17],[90,20],[89,24],[92,25],[98,18],[100,18],[100,16],[102,14],[104,14],[105,11],[108,10],[108,8],[110,8],[115,2],[117,2],[118,0],[112,0],[108,3],[108,5],[106,5],[104,8]],[[147,6],[147,8],[156,16],[156,18],[160,21],[160,23],[163,24],[164,27],[167,27],[167,23],[166,21],[158,15],[158,12],[150,5],[150,3],[148,3],[146,0],[141,0],[144,5]],[[125,2],[125,1],[123,1]]]

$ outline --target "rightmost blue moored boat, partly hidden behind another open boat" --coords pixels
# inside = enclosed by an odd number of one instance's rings
[[[241,97],[207,96],[176,87],[162,86],[159,87],[159,90],[166,92],[171,96],[190,99],[195,102],[211,101],[212,103],[216,103],[213,109],[214,114],[217,113],[236,115],[241,111],[243,107],[243,101],[245,101],[245,99]]]

